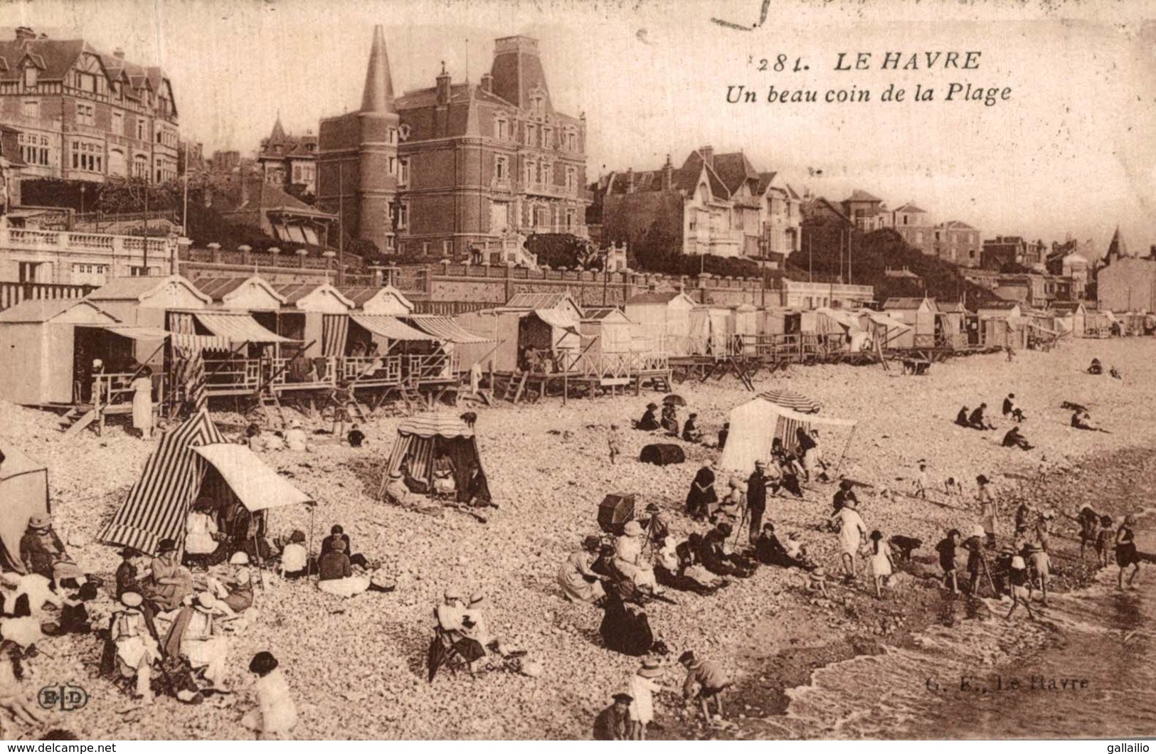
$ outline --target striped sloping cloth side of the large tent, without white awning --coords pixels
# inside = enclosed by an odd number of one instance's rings
[[[156,552],[162,539],[181,541],[185,516],[197,500],[208,466],[193,449],[224,442],[206,411],[165,433],[99,539],[149,554]]]

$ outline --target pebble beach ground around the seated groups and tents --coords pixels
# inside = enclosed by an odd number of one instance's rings
[[[1119,367],[1125,379],[1084,374],[1092,356]],[[820,400],[825,415],[858,420],[843,472],[872,486],[859,495],[868,528],[918,537],[925,547],[917,554],[928,555],[946,528],[976,523],[972,495],[979,473],[991,476],[996,495],[1007,498],[1020,482],[1005,472],[1035,473],[1044,456],[1048,464],[1079,467],[1095,453],[1150,446],[1156,435],[1154,356],[1156,341],[1149,339],[1082,340],[1051,353],[1023,352],[1010,363],[1002,354],[957,358],[935,364],[925,377],[879,365],[799,367],[761,376],[756,389],[790,387]],[[699,427],[711,434],[727,411],[751,397],[732,377],[684,383],[676,391],[690,404],[683,417],[696,411]],[[1035,451],[999,446],[1009,426],[999,417],[999,406],[1009,391],[1028,414],[1022,429]],[[88,689],[91,700],[84,709],[53,720],[84,737],[244,738],[239,719],[252,703],[245,667],[253,652],[267,649],[280,658],[297,696],[298,738],[588,737],[594,714],[625,686],[638,660],[601,648],[601,613],[562,600],[558,566],[583,535],[596,533],[596,505],[608,491],[637,493],[639,508],[655,502],[670,512],[675,530],[692,531],[680,512],[687,487],[699,465],[717,457],[712,449],[688,445],[683,465],[657,468],[633,460],[655,438],[630,430],[629,420],[652,398],[644,393],[565,406],[547,399],[480,409],[477,433],[501,505],[487,524],[455,511],[431,516],[373,500],[397,417],[381,415],[364,426],[369,444],[360,450],[319,442],[310,453],[269,453],[272,465],[319,501],[314,538],[343,524],[355,550],[383,560],[395,575],[397,592],[341,600],[312,584],[273,583],[258,593],[259,624],[232,640],[230,680],[238,694],[223,701],[186,707],[164,698],[148,710],[132,709],[119,689],[95,678],[101,650],[94,638],[50,640],[46,648],[54,657],[31,663],[32,686],[69,682]],[[1065,400],[1088,406],[1112,434],[1070,429],[1069,412],[1060,409]],[[1000,431],[951,424],[961,405],[980,401],[987,402]],[[625,451],[615,466],[606,463],[612,421],[623,427]],[[53,416],[8,405],[0,405],[0,426],[6,439],[49,465],[59,528],[83,566],[111,579],[114,550],[92,540],[135,481],[150,446],[118,427],[103,438],[86,433],[68,442]],[[831,445],[829,458],[838,454]],[[964,496],[950,504],[968,510],[873,494],[883,487],[910,489],[920,458],[927,459],[934,486],[947,476],[964,481]],[[814,486],[802,501],[770,501],[766,513],[780,531],[801,532],[812,555],[830,571],[837,570],[835,538],[816,526],[830,511],[832,491]],[[1070,512],[1068,501],[1050,504]],[[1005,518],[1011,512],[1006,507]],[[277,510],[272,519],[274,533],[307,530],[309,524],[309,515],[298,509]],[[492,633],[527,650],[542,664],[542,675],[446,674],[427,683],[431,611],[450,585],[486,593]],[[928,619],[935,594],[916,579],[902,579],[882,603],[862,589],[842,587],[831,603],[816,603],[795,575],[762,568],[718,596],[680,593],[679,605],[654,604],[647,612],[673,657],[694,649],[718,660],[747,688],[764,674],[765,704],[757,693],[747,693],[742,705],[732,708],[738,727],[729,734],[741,737],[748,718],[781,711],[783,686],[805,682],[806,667],[902,642]],[[783,650],[796,650],[798,661],[779,663],[778,670],[766,664]],[[766,679],[768,667],[781,678]],[[679,671],[670,668],[667,683],[681,683]],[[699,734],[680,722],[683,708],[673,697],[659,701],[657,712],[665,734]]]

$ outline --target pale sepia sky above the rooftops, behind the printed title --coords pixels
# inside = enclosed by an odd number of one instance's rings
[[[477,81],[497,37],[540,40],[556,109],[586,114],[587,173],[680,164],[701,146],[742,150],[802,193],[864,188],[984,237],[1090,239],[1119,226],[1156,244],[1156,5],[768,0],[14,0],[0,27],[82,36],[163,66],[184,138],[252,153],[280,116],[290,132],[358,106],[375,23],[394,89],[429,87],[445,61]],[[1144,16],[1149,21],[1144,21]],[[712,19],[748,27],[739,30]],[[948,53],[973,69],[947,68]],[[836,71],[869,53],[867,69]],[[880,69],[884,56],[914,71]],[[927,52],[932,53],[928,60]],[[941,53],[939,57],[934,54]],[[772,68],[779,56],[785,71]],[[758,71],[759,61],[768,71]],[[799,71],[794,71],[795,61]],[[928,62],[932,68],[927,68]],[[806,68],[806,69],[805,69]],[[1008,99],[946,101],[950,84]],[[903,102],[881,102],[894,84]],[[933,90],[913,102],[914,88]],[[728,87],[755,103],[728,104]],[[768,103],[773,86],[816,103]],[[828,91],[869,102],[828,103]]]

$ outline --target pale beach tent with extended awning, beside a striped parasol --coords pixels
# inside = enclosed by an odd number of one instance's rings
[[[783,441],[785,448],[793,448],[799,428],[805,431],[830,429],[836,437],[845,437],[839,453],[842,461],[855,429],[855,422],[850,419],[800,414],[762,398],[733,408],[727,419],[731,421],[731,434],[727,435],[719,464],[727,471],[742,473],[753,472],[756,460],[766,461],[771,458],[771,444],[776,437]],[[832,448],[827,437],[822,438],[821,445]]]

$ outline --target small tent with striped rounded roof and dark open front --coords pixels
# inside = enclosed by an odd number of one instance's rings
[[[482,465],[481,453],[477,451],[477,438],[473,428],[457,414],[444,412],[421,414],[405,420],[398,426],[398,439],[390,451],[390,461],[386,464],[381,487],[390,474],[401,468],[402,461],[409,467],[409,475],[433,487],[433,458],[445,452],[453,464],[453,481],[459,490],[464,490],[469,485],[469,464],[477,461],[477,466],[486,473]]]

